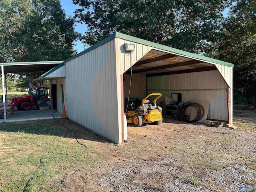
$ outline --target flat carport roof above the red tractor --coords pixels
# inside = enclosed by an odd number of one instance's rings
[[[51,70],[62,62],[64,61],[6,62],[0,63],[0,66],[4,66],[4,73],[34,72]]]

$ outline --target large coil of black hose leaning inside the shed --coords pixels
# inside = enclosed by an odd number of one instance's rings
[[[193,120],[190,120],[190,117],[186,116],[186,109],[190,106],[196,108],[196,117]],[[196,122],[203,118],[204,108],[202,107],[202,105],[200,105],[196,102],[192,102],[192,101],[184,102],[184,103],[180,104],[180,106],[178,108],[177,116],[178,116],[179,120],[182,120],[182,121]]]

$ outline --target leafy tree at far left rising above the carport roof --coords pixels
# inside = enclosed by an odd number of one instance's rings
[[[79,34],[74,18],[66,18],[59,0],[0,2],[0,62],[65,60],[75,53]],[[20,73],[29,86],[38,72]]]

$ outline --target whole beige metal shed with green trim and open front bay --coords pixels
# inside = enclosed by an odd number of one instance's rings
[[[124,44],[134,44],[125,52]],[[114,33],[36,80],[56,85],[58,112],[113,142],[124,142],[124,98],[182,93],[209,100],[208,119],[232,123],[233,64]],[[53,102],[51,102],[53,103]]]

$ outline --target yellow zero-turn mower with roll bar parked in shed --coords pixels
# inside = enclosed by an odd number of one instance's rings
[[[152,95],[158,95],[158,97],[153,101],[154,105],[149,104],[150,101],[147,100],[147,98]],[[142,100],[142,106],[139,106],[136,111],[130,109],[128,112],[124,113],[127,118],[127,123],[132,123],[136,127],[141,127],[144,123],[160,125],[163,121],[162,108],[160,106],[156,106],[156,101],[161,96],[162,94],[160,93],[149,94]]]

